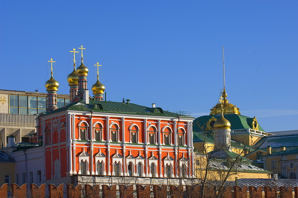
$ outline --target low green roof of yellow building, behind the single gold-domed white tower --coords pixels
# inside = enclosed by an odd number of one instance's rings
[[[207,143],[215,144],[214,138],[212,135],[210,135],[210,134],[205,135],[203,133],[193,132],[193,143],[200,143],[200,142],[204,142],[204,141]],[[254,149],[252,146],[245,145],[240,142],[233,141],[233,140],[231,140],[231,146],[232,146],[232,148],[240,148],[240,149],[246,148],[249,150]]]

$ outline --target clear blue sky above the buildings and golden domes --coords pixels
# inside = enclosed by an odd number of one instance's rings
[[[1,1],[1,89],[69,93],[83,45],[107,99],[209,115],[223,88],[267,132],[298,129],[298,1]],[[78,63],[78,62],[77,62]],[[92,95],[92,94],[91,94]]]

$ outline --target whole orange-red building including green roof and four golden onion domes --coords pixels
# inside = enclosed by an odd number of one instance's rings
[[[73,174],[194,177],[193,117],[155,104],[103,101],[105,87],[98,75],[94,97],[89,96],[83,55],[81,60],[67,79],[70,104],[57,108],[59,83],[53,72],[46,82],[49,105],[38,116],[32,139],[44,147],[45,180]]]

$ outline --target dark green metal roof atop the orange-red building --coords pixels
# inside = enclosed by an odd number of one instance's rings
[[[64,107],[60,107],[50,112],[43,112],[39,116],[49,115],[64,110],[77,110],[77,111],[93,111],[93,112],[105,112],[105,113],[128,113],[137,115],[156,115],[156,116],[170,116],[170,117],[187,117],[193,118],[192,116],[185,116],[179,113],[173,113],[164,111],[160,107],[151,108],[134,103],[122,103],[122,102],[111,102],[111,101],[93,101],[89,100],[89,104],[85,104],[84,100],[73,102]]]

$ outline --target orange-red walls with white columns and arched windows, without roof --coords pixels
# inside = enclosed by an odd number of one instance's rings
[[[115,114],[40,116],[46,180],[67,174],[193,176],[192,118]]]

